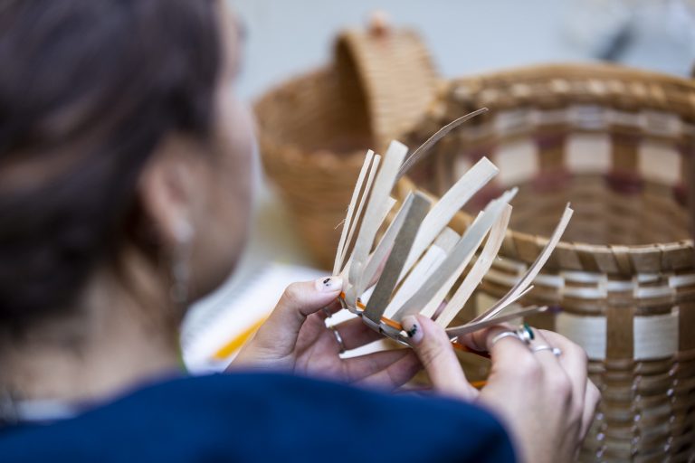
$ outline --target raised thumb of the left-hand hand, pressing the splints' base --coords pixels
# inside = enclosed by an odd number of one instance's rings
[[[277,350],[290,350],[309,315],[335,301],[343,288],[340,277],[292,283],[256,334],[256,341]]]

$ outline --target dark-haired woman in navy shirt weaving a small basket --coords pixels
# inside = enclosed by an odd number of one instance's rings
[[[185,307],[248,222],[238,47],[213,0],[0,0],[0,460],[573,458],[598,399],[580,348],[473,335],[492,357],[478,392],[411,317],[413,350],[341,360],[337,278],[290,286],[229,374],[181,371]],[[375,391],[422,365],[438,396]]]

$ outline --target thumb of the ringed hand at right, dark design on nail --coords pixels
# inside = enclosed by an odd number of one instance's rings
[[[437,391],[465,400],[478,396],[478,390],[466,380],[449,336],[441,326],[422,315],[404,317],[402,325]]]

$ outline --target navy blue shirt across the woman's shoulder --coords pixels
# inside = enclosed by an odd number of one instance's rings
[[[0,461],[513,461],[488,411],[274,373],[158,383],[70,420],[0,430]]]

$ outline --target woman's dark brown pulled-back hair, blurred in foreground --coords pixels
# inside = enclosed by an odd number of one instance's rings
[[[172,132],[206,139],[213,0],[0,0],[0,326],[68,307]]]

